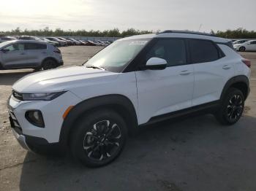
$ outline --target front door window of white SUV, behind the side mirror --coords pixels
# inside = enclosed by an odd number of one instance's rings
[[[146,61],[157,57],[167,61],[167,66],[178,66],[187,63],[186,44],[183,39],[159,39],[146,53]]]

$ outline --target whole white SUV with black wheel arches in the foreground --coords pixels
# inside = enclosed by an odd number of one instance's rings
[[[113,161],[127,132],[189,112],[241,117],[250,61],[227,39],[189,31],[119,39],[83,66],[30,74],[13,85],[13,133],[35,152],[56,145],[90,166]]]

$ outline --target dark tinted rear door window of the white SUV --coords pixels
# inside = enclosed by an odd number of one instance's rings
[[[219,59],[219,50],[211,41],[189,40],[189,49],[192,63],[205,63]]]

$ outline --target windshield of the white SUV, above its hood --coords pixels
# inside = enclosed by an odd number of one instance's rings
[[[138,55],[148,39],[116,41],[86,62],[86,67],[96,66],[108,71],[121,72]]]

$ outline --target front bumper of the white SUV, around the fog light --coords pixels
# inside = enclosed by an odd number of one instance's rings
[[[69,106],[76,105],[80,99],[67,91],[52,101],[17,101],[13,95],[8,101],[10,113],[10,123],[18,141],[26,144],[22,146],[31,146],[34,144],[47,145],[59,142],[61,126],[63,123],[62,115]],[[45,122],[45,128],[39,128],[28,120],[25,114],[29,110],[40,110]]]

